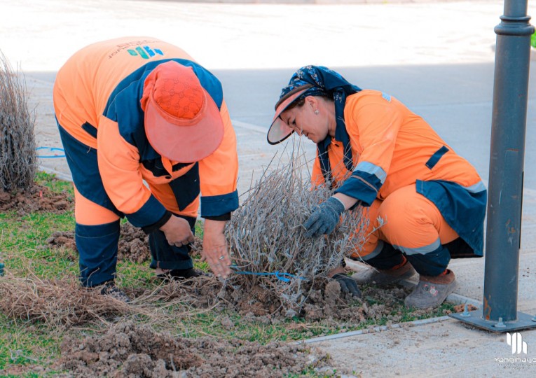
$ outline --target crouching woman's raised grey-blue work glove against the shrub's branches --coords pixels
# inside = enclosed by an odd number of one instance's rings
[[[334,197],[329,197],[327,201],[319,204],[308,220],[303,223],[305,236],[317,237],[323,234],[331,234],[335,230],[343,211],[345,211],[343,202]]]

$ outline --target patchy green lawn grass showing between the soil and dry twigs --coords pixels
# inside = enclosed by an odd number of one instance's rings
[[[46,186],[54,193],[64,194],[69,200],[74,197],[71,183],[56,180],[49,174],[38,173],[36,183]],[[125,221],[123,220],[123,222]],[[48,237],[53,232],[71,232],[74,230],[74,225],[74,211],[72,210],[62,214],[36,212],[23,216],[17,211],[4,212],[0,214],[0,262],[4,262],[6,265],[6,272],[15,276],[27,276],[31,270],[32,274],[42,279],[60,279],[66,276],[76,279],[78,276],[76,253],[65,248],[49,248],[47,243]],[[202,237],[201,223],[195,225],[195,235]],[[199,269],[209,271],[207,263],[200,261],[199,256],[195,256],[194,264]],[[149,263],[118,262],[118,283],[125,288],[151,288],[154,286],[153,274],[153,270],[149,268]],[[377,299],[373,298],[365,300],[369,306],[378,302]],[[395,307],[389,316],[370,319],[359,325],[348,323],[337,325],[333,321],[308,322],[298,317],[263,323],[259,320],[245,318],[230,310],[194,309],[188,312],[186,307],[181,307],[178,304],[163,310],[169,314],[174,314],[172,321],[155,325],[155,328],[167,330],[182,337],[212,335],[219,338],[238,338],[266,344],[273,341],[291,342],[385,325],[392,322],[392,316],[399,317],[400,321],[442,316],[444,311],[451,309],[451,304],[443,304],[433,312],[425,314],[420,312],[420,315],[415,315],[413,311],[405,309],[400,301],[399,307]],[[223,318],[228,318],[233,325],[224,327],[221,321]],[[140,322],[144,321],[143,316],[139,316],[137,319]],[[94,325],[92,327],[95,328]],[[103,325],[102,330],[104,329]],[[98,329],[96,330],[98,331]],[[80,330],[50,329],[48,325],[43,323],[14,321],[0,313],[0,370],[29,365],[50,367],[50,364],[60,357],[62,339],[65,335],[72,334],[82,337],[88,332],[87,330],[81,332]],[[47,373],[47,375],[49,374]],[[309,370],[305,370],[303,375],[318,377],[314,371]],[[36,376],[33,373],[25,374],[25,377]]]

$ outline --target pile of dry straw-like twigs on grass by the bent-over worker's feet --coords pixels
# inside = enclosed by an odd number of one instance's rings
[[[221,289],[221,282],[212,277],[168,284],[158,281],[150,290],[128,290],[134,299],[127,304],[101,295],[99,286],[83,288],[75,276],[42,279],[31,267],[25,269],[25,276],[6,272],[0,277],[0,313],[15,321],[42,322],[51,328],[108,326],[117,318],[139,320],[139,316],[144,323],[162,324],[209,311],[217,304],[214,292]],[[173,311],[168,311],[170,308]]]

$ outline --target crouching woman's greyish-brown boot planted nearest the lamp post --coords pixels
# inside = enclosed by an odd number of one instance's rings
[[[406,307],[415,309],[427,309],[437,307],[443,303],[449,294],[458,286],[456,277],[451,269],[446,269],[446,273],[439,276],[419,277],[419,283],[410,295],[404,300]]]

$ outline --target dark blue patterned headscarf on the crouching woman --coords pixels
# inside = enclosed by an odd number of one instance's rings
[[[313,87],[305,90],[296,101],[308,96],[324,96],[334,99],[336,120],[335,139],[343,143],[344,165],[346,169],[351,171],[353,168],[352,148],[350,147],[350,137],[348,136],[344,123],[344,106],[346,104],[346,97],[359,92],[361,88],[350,84],[341,74],[327,67],[304,66],[292,75],[289,85],[282,89],[280,99],[291,90],[294,90],[294,88],[301,87],[305,84],[312,84]],[[330,143],[331,137],[328,135],[326,139],[317,144],[320,167],[322,168],[322,174],[326,183],[331,183],[331,167],[327,154],[327,147]]]

